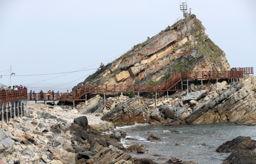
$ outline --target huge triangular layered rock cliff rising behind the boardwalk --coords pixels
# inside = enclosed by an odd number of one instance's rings
[[[73,91],[82,84],[161,82],[169,71],[221,70],[230,70],[225,53],[208,38],[201,21],[192,15],[134,46],[79,83]]]

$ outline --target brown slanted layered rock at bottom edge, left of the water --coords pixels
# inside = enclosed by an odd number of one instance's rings
[[[89,160],[86,161],[85,164],[103,164],[105,161],[110,161],[111,163],[115,164],[121,160],[128,161],[131,158],[131,155],[125,153],[122,150],[119,150],[117,147],[109,146],[102,149],[99,153],[91,157]]]

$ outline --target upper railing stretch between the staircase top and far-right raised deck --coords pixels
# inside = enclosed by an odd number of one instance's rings
[[[183,72],[182,80],[243,78],[243,71]]]

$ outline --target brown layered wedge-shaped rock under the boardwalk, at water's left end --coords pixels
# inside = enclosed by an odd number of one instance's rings
[[[118,105],[106,115],[102,116],[102,120],[111,121],[113,123],[137,123],[145,122],[144,119],[149,118],[146,115],[146,105],[142,97],[135,96],[126,102]]]

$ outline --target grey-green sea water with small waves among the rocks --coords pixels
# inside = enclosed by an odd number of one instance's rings
[[[127,137],[137,140],[122,139],[123,146],[128,147],[137,142],[144,145],[145,154],[131,153],[132,157],[150,158],[156,163],[164,163],[171,157],[177,157],[183,161],[195,161],[199,164],[221,164],[230,154],[217,153],[218,146],[238,136],[256,139],[256,126],[237,125],[234,122],[211,123],[203,125],[156,125],[135,124],[133,126],[115,129],[127,133]],[[171,133],[170,130],[178,130],[181,133]],[[154,133],[161,141],[149,142],[147,137]],[[178,143],[180,146],[176,146]],[[198,144],[209,146],[198,146]],[[154,154],[162,155],[161,157]],[[165,158],[160,159],[160,158]]]

